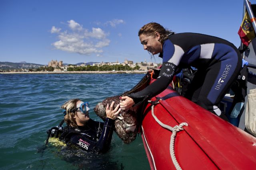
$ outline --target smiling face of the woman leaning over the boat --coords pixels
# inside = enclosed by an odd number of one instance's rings
[[[144,50],[149,51],[152,55],[162,52],[162,44],[159,41],[160,34],[155,33],[154,35],[140,35],[140,43],[143,45]]]

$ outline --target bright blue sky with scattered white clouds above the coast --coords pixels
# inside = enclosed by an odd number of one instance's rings
[[[139,41],[146,23],[239,47],[242,13],[243,0],[0,0],[0,61],[161,63]]]

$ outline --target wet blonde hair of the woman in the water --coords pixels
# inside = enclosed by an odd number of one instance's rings
[[[76,113],[76,103],[81,101],[80,99],[71,99],[65,102],[61,108],[66,110],[66,115],[64,116],[64,121],[68,126],[77,127],[76,119],[74,118]]]

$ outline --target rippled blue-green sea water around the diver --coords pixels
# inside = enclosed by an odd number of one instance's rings
[[[113,134],[106,154],[63,152],[44,147],[46,131],[63,119],[60,106],[69,99],[93,108],[106,97],[130,90],[144,74],[0,74],[0,169],[80,170],[150,169],[142,138],[124,144]]]

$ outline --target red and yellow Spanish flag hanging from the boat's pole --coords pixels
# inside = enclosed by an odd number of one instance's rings
[[[255,32],[251,23],[254,20],[255,18],[250,19],[250,16],[246,10],[244,19],[238,31],[238,35],[240,36],[242,43],[246,46],[248,46],[250,41],[255,37]]]

